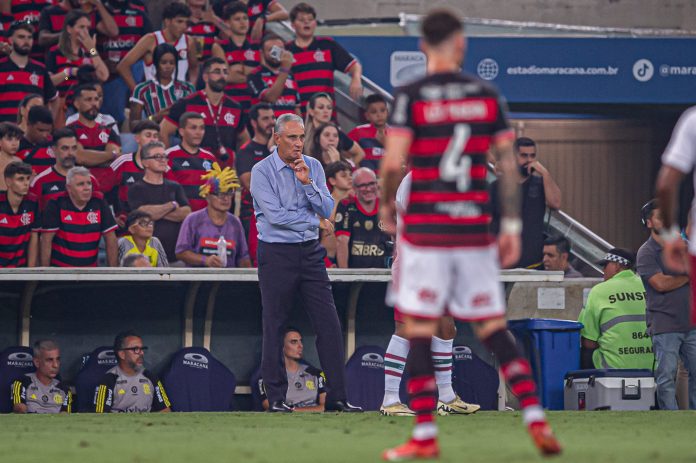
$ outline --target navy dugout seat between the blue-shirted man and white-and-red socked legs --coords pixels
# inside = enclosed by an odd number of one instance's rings
[[[348,401],[363,410],[379,410],[384,398],[384,354],[378,346],[356,349],[346,364]]]

